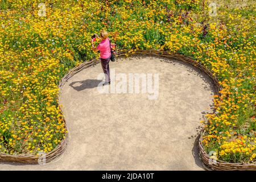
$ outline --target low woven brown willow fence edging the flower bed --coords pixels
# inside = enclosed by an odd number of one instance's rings
[[[185,57],[183,55],[177,55],[174,53],[166,52],[166,51],[146,51],[146,50],[139,50],[133,53],[127,53],[127,52],[119,52],[118,57],[127,57],[132,55],[148,55],[148,56],[160,56],[165,57],[167,59],[172,59],[176,61],[183,61],[185,63],[191,64],[194,67],[200,69],[200,71],[206,73],[209,78],[212,80],[217,94],[220,96],[219,91],[221,90],[221,86],[218,83],[218,79],[213,76],[212,72],[209,71],[209,69],[205,68],[203,65],[201,65],[199,62],[189,59],[188,57]],[[58,102],[61,90],[63,86],[65,85],[65,82],[71,78],[73,75],[75,75],[77,72],[80,72],[82,69],[92,67],[93,65],[96,65],[100,63],[99,59],[93,59],[90,61],[86,61],[80,65],[77,65],[76,67],[69,70],[69,72],[61,78],[59,82],[59,94],[58,94]],[[61,108],[60,108],[61,109]],[[63,111],[61,110],[61,113],[63,114]],[[63,118],[64,122],[65,119]],[[66,122],[65,127],[67,128]],[[68,129],[68,128],[67,128]],[[213,160],[210,158],[210,156],[205,152],[203,147],[203,135],[204,131],[202,131],[199,139],[199,149],[200,149],[200,157],[201,160],[204,162],[204,166],[208,170],[256,170],[256,164],[243,164],[243,163],[226,163],[221,160]],[[39,164],[42,162],[43,159],[44,162],[49,163],[52,162],[52,160],[58,158],[63,152],[65,151],[65,148],[67,147],[68,143],[68,133],[65,134],[65,139],[63,139],[60,144],[51,152],[48,152],[44,156],[39,155],[7,155],[7,154],[0,154],[0,161],[5,162],[19,162],[19,163],[34,163]]]

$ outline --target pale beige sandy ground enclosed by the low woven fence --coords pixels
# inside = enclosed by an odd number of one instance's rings
[[[158,73],[158,98],[99,93],[101,65],[83,69],[61,92],[70,134],[63,156],[46,165],[2,163],[0,169],[202,170],[195,143],[200,120],[212,112],[209,78],[191,65],[154,56],[118,59],[113,68],[116,75]]]

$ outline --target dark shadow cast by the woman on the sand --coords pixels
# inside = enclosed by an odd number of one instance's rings
[[[100,82],[102,82],[102,80],[82,80],[82,81],[73,81],[71,82],[71,84],[69,84],[69,86],[71,86],[73,89],[77,90],[77,91],[81,91],[81,90],[85,90],[85,89],[92,89],[92,88],[96,88],[98,86],[98,84],[100,84]],[[73,86],[74,84],[79,83],[81,84],[80,86]]]

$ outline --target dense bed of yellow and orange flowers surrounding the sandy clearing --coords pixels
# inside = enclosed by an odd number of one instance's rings
[[[223,89],[201,121],[205,150],[255,163],[255,3],[214,2],[47,0],[44,14],[40,1],[1,1],[0,152],[48,152],[65,137],[57,85],[98,56],[90,36],[105,29],[119,51],[170,51],[209,68]]]

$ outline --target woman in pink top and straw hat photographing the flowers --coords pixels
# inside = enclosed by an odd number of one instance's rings
[[[111,50],[110,50],[110,41],[108,38],[108,32],[101,31],[101,37],[99,37],[97,34],[96,36],[98,39],[101,40],[101,43],[98,44],[98,46],[95,48],[93,45],[93,39],[92,39],[92,48],[93,51],[100,51],[100,58],[101,58],[101,67],[103,72],[105,73],[106,83],[110,84],[110,72],[109,72],[109,60],[111,57]],[[105,85],[105,84],[104,84]]]

